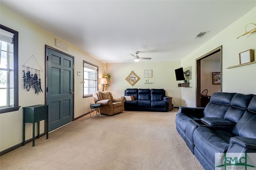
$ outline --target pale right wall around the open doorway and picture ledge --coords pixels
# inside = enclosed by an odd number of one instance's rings
[[[182,59],[182,67],[192,68],[190,70],[192,88],[183,88],[181,93],[182,100],[187,99],[189,107],[196,106],[196,58],[212,51],[220,45],[222,45],[222,92],[256,94],[256,63],[227,69],[227,67],[239,64],[238,53],[242,51],[254,49],[255,56],[256,32],[236,39],[238,36],[244,34],[246,24],[252,22],[256,23],[256,8]],[[251,30],[252,28],[247,29]]]

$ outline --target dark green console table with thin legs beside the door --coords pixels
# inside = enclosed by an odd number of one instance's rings
[[[48,105],[34,105],[23,107],[23,145],[25,145],[25,123],[33,123],[33,145],[35,146],[35,123],[38,125],[38,138],[40,138],[40,121],[44,120],[44,132],[48,139]]]

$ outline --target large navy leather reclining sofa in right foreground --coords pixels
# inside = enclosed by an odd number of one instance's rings
[[[256,152],[256,95],[213,93],[205,108],[180,107],[176,129],[207,170],[215,153]]]

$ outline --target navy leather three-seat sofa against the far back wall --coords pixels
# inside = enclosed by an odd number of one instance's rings
[[[169,97],[164,89],[126,89],[125,97],[133,96],[132,101],[124,102],[125,111],[169,111]]]

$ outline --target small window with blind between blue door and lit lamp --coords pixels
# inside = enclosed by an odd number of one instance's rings
[[[84,61],[84,97],[98,91],[98,66]]]

